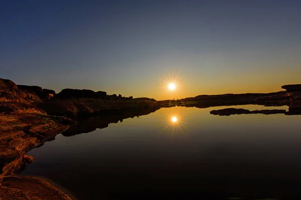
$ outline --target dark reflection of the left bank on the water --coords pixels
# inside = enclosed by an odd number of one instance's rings
[[[70,126],[68,130],[62,134],[64,136],[72,136],[76,134],[92,132],[96,130],[96,128],[108,127],[109,123],[118,123],[119,121],[122,122],[123,119],[134,118],[135,116],[139,117],[141,115],[155,112],[156,110],[156,108],[139,109],[91,117],[89,119],[82,119],[78,123]]]

